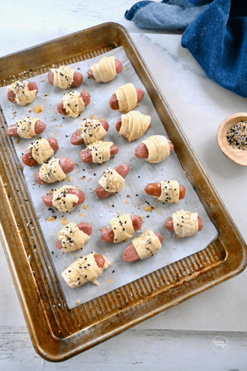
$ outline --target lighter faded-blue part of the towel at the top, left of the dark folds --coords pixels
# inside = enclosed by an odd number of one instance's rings
[[[212,0],[143,0],[126,10],[124,17],[138,28],[184,29]],[[244,0],[243,0],[244,1]]]

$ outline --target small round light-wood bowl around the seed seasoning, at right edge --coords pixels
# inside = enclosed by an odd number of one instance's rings
[[[231,147],[231,145],[228,145],[226,136],[228,130],[240,121],[247,121],[246,112],[238,112],[224,119],[218,127],[217,142],[221,151],[229,160],[236,162],[236,164],[247,166],[247,150],[237,150]]]

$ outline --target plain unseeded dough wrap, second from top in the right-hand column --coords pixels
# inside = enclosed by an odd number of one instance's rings
[[[119,103],[119,112],[128,112],[140,106],[140,104],[137,103],[136,88],[132,83],[119,86],[114,93]]]

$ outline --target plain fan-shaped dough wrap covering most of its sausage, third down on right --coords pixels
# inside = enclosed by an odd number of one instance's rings
[[[151,117],[143,115],[138,111],[130,111],[126,115],[121,115],[122,125],[119,131],[129,142],[140,138],[150,125]]]

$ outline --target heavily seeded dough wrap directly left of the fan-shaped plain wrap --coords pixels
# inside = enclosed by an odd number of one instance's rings
[[[79,127],[81,130],[80,137],[84,139],[84,144],[90,144],[96,140],[102,140],[107,134],[107,131],[95,118],[90,120],[84,118],[83,124]]]

